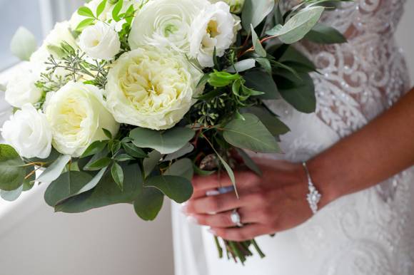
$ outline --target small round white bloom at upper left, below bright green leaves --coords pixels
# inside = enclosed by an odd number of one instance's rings
[[[98,22],[82,31],[79,46],[89,57],[111,60],[121,50],[118,33],[111,26]]]

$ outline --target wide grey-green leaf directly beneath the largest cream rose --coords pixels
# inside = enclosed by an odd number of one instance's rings
[[[141,148],[151,148],[161,154],[171,154],[180,150],[195,135],[190,128],[173,128],[166,131],[136,128],[129,133],[133,144]]]

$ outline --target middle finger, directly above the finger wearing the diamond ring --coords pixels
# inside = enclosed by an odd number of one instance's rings
[[[187,214],[219,213],[242,207],[244,199],[238,199],[233,192],[211,197],[191,199],[187,202],[184,212]]]

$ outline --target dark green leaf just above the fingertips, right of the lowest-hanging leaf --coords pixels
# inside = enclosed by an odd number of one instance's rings
[[[193,194],[193,185],[185,177],[166,175],[149,177],[144,187],[155,187],[178,203],[186,202]]]

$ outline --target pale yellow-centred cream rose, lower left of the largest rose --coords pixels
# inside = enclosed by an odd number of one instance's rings
[[[106,109],[102,93],[94,85],[71,81],[49,99],[46,118],[56,150],[79,157],[92,142],[108,139],[103,128],[116,135],[119,124]]]

